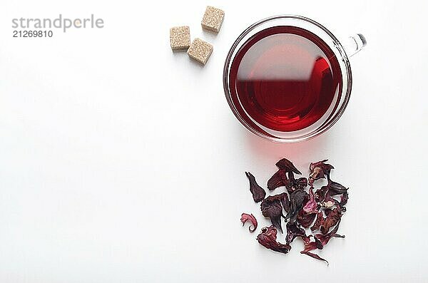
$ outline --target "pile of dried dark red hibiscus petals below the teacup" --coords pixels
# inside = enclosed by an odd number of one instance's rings
[[[262,215],[270,218],[272,222],[272,226],[263,227],[260,231],[257,237],[260,245],[286,254],[290,251],[293,240],[300,237],[305,244],[301,254],[327,262],[312,251],[323,249],[333,237],[345,237],[337,234],[337,230],[342,215],[346,211],[345,205],[349,195],[347,187],[331,180],[330,171],[334,167],[326,162],[327,160],[321,160],[310,163],[308,178],[296,179],[295,174],[302,175],[302,173],[290,160],[282,158],[276,163],[277,172],[267,181],[267,189],[272,191],[278,187],[285,187],[285,191],[268,197],[263,187],[255,181],[255,177],[251,173],[245,173],[250,180],[253,200],[261,201]],[[320,179],[327,179],[327,185],[316,188],[316,181]],[[309,190],[306,190],[308,185]],[[247,221],[252,224],[248,229],[254,232],[257,229],[257,220],[254,215],[243,213],[241,222],[244,225]],[[285,244],[277,242],[277,231],[283,233],[282,221],[287,223]],[[311,234],[317,230],[320,232]]]

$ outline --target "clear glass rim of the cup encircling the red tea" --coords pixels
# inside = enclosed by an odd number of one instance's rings
[[[322,31],[325,31],[325,33],[330,36],[332,39],[332,42],[334,46],[332,46],[331,43],[327,43],[330,48],[334,47],[339,51],[340,55],[342,56],[342,61],[345,63],[345,71],[346,71],[346,78],[347,78],[347,89],[346,91],[342,92],[342,95],[345,97],[344,101],[342,101],[340,107],[335,111],[334,115],[332,115],[332,118],[327,121],[327,123],[320,126],[320,128],[317,128],[316,130],[312,130],[310,133],[307,133],[305,135],[300,135],[298,137],[292,137],[292,138],[277,138],[272,137],[270,135],[266,135],[265,133],[260,133],[260,131],[256,130],[255,128],[248,125],[248,123],[240,116],[238,113],[238,110],[235,108],[235,105],[232,101],[232,98],[230,96],[230,85],[229,85],[229,71],[230,71],[230,64],[233,61],[233,53],[235,53],[235,50],[240,47],[240,43],[243,40],[245,36],[250,34],[251,31],[253,31],[255,28],[260,26],[261,24],[265,24],[268,21],[273,21],[276,19],[297,19],[301,21],[306,21],[309,24],[315,25],[318,28],[322,29]],[[345,111],[345,108],[347,107],[347,104],[350,100],[350,94],[352,89],[352,72],[351,72],[351,66],[350,61],[347,56],[347,53],[345,52],[345,48],[343,48],[340,41],[328,30],[325,28],[325,26],[322,26],[321,24],[317,23],[317,21],[313,21],[312,19],[306,18],[304,16],[297,16],[297,15],[278,15],[278,16],[270,16],[268,18],[262,19],[260,21],[255,22],[251,26],[249,26],[245,31],[243,31],[240,36],[235,40],[233,45],[230,47],[230,50],[228,52],[228,56],[225,60],[225,66],[223,68],[223,88],[225,91],[226,100],[228,101],[228,104],[230,106],[230,109],[232,109],[233,114],[236,118],[240,121],[241,124],[245,126],[250,132],[255,133],[255,135],[260,136],[261,138],[265,138],[266,140],[273,141],[275,143],[297,143],[303,140],[310,140],[311,138],[315,138],[316,136],[325,133],[328,129],[334,125],[337,120],[342,116],[342,114]]]

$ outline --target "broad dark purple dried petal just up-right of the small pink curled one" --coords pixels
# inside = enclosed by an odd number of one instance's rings
[[[266,197],[260,204],[262,215],[264,217],[269,217],[272,225],[275,226],[277,230],[280,230],[281,233],[281,216],[284,217],[282,214],[282,205],[288,206],[288,197],[285,192],[282,192],[280,195],[271,195],[270,197]]]

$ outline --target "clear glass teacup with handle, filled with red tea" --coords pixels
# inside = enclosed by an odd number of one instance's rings
[[[350,99],[349,57],[366,44],[343,44],[302,16],[272,16],[245,29],[223,71],[225,96],[245,128],[280,143],[313,138],[332,127]]]

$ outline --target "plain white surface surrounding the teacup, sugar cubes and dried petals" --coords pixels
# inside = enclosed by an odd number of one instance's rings
[[[225,10],[217,36],[207,4]],[[0,282],[428,281],[426,1],[2,0]],[[104,29],[12,38],[13,18],[84,18]],[[300,14],[340,38],[361,32],[345,115],[327,133],[277,145],[228,108],[222,68],[243,29]],[[173,53],[169,28],[213,43],[203,68]],[[264,249],[242,227],[287,157],[305,174],[329,158],[350,187],[324,262]],[[275,192],[282,192],[277,189]],[[284,236],[278,238],[284,242]]]

